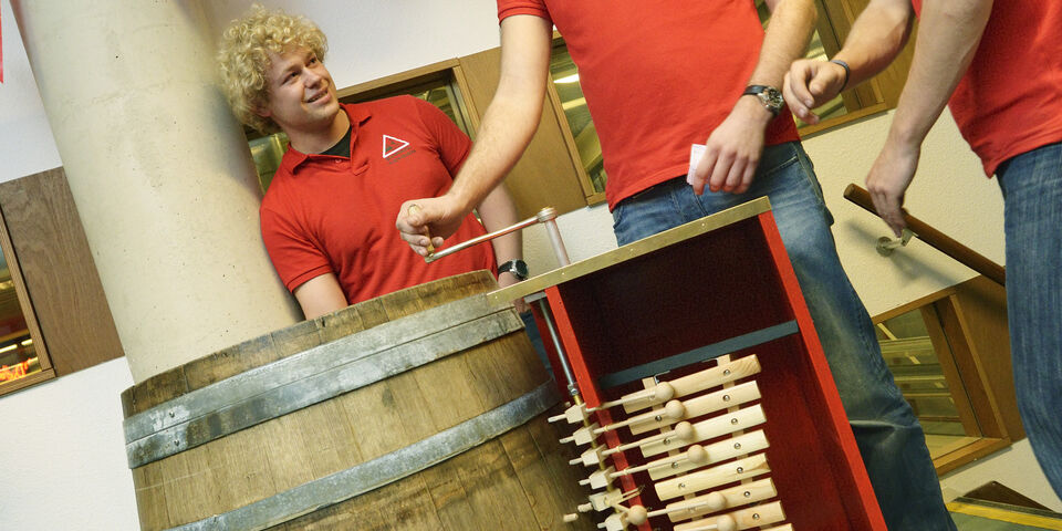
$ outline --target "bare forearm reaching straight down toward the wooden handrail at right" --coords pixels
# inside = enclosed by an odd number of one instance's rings
[[[991,10],[992,0],[925,1],[889,142],[922,144],[969,67]]]

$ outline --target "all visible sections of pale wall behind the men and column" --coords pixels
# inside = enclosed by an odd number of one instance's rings
[[[206,2],[215,30],[242,13],[249,3]],[[340,86],[498,45],[492,0],[263,3],[305,13],[321,24],[331,40],[327,64]],[[0,180],[10,180],[61,162],[9,0],[0,0],[0,8],[6,71],[0,85]],[[974,274],[918,242],[894,258],[878,257],[874,242],[886,235],[884,225],[841,199],[847,183],[862,183],[889,119],[887,115],[870,118],[805,144],[836,217],[834,232],[842,261],[872,314]],[[949,188],[951,181],[959,186]],[[979,252],[1002,261],[999,192],[995,183],[980,176],[949,118],[930,135],[908,207]],[[604,207],[568,214],[561,217],[560,226],[573,260],[615,247],[612,219]],[[541,233],[529,235],[527,241],[535,270],[554,267]],[[6,456],[19,456],[0,472],[0,514],[4,514],[6,531],[136,529],[118,400],[118,394],[129,385],[125,361],[115,360],[0,397],[0,448]],[[1013,459],[1008,465],[1030,469],[1027,449],[1019,447],[1008,456]],[[964,481],[974,482],[968,478],[977,477],[971,472],[977,468],[964,469],[962,479],[954,485],[966,488]],[[1008,486],[1022,490],[1017,482]],[[8,520],[11,517],[14,520]]]

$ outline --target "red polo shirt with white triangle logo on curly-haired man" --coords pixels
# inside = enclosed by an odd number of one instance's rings
[[[343,105],[351,158],[289,148],[259,210],[262,239],[289,290],[335,273],[348,303],[468,271],[497,270],[490,244],[430,264],[398,238],[410,198],[442,195],[470,142],[441,111],[412,96]],[[451,241],[486,233],[469,215]]]

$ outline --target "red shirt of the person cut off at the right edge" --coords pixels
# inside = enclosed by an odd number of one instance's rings
[[[920,13],[922,0],[914,6]],[[1062,2],[995,2],[948,104],[989,177],[1008,158],[1062,140]]]

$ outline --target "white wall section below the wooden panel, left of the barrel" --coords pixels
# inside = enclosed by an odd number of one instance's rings
[[[138,528],[118,403],[131,385],[118,358],[0,397],[0,528]]]

